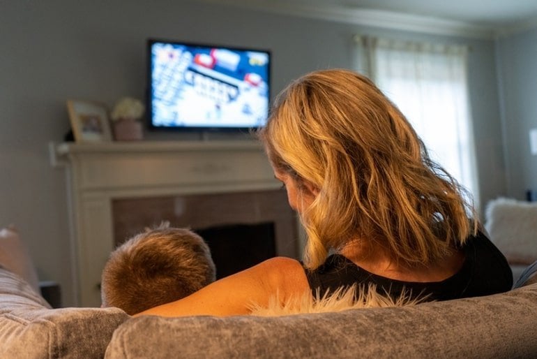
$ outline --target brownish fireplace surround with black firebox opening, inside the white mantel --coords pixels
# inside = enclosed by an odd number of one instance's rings
[[[280,189],[118,198],[112,219],[116,246],[162,221],[194,230],[209,244],[217,278],[277,254],[296,257],[298,247],[294,212]]]

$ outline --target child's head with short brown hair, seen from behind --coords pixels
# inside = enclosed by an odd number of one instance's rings
[[[128,314],[179,300],[215,280],[211,251],[202,237],[162,224],[112,252],[103,270],[103,307]]]

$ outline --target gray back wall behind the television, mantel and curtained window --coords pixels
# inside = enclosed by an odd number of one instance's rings
[[[66,180],[63,170],[50,166],[47,153],[47,144],[61,141],[70,127],[67,98],[107,105],[124,95],[141,98],[149,37],[268,48],[275,94],[305,72],[350,68],[351,37],[356,33],[471,45],[469,86],[481,200],[504,194],[494,41],[364,28],[194,1],[0,0],[0,226],[14,223],[20,228],[40,278],[59,281],[64,304],[72,305]],[[509,40],[505,42],[507,46]],[[518,101],[511,101],[508,107],[517,106]],[[508,143],[515,146],[516,140]],[[515,170],[523,173],[523,167],[513,167],[511,175]],[[510,193],[527,185],[512,183]]]

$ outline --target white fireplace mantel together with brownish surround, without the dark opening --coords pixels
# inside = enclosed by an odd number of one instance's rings
[[[110,251],[161,219],[191,228],[273,221],[276,254],[300,255],[303,233],[258,142],[62,143],[53,152],[68,177],[76,305],[100,306]]]

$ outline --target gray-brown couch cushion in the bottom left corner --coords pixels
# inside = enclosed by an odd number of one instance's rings
[[[26,281],[0,268],[0,358],[103,358],[128,318],[117,308],[50,309]]]

